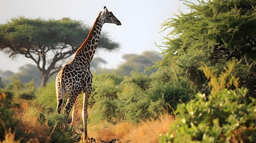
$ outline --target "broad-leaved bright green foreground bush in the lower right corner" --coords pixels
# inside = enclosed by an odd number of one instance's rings
[[[233,73],[234,63],[217,77],[216,70],[202,65],[200,70],[210,79],[211,94],[198,93],[195,99],[177,106],[177,121],[167,134],[159,136],[159,143],[179,142],[255,142],[256,100],[245,104],[246,88],[238,88]],[[231,90],[231,86],[236,89]]]

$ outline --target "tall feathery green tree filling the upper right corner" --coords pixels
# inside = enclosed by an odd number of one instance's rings
[[[241,86],[256,96],[256,3],[252,0],[183,0],[191,11],[175,15],[162,24],[166,35],[164,60],[159,63],[164,80],[192,81],[198,91],[210,90],[198,70],[200,63],[215,66],[219,72],[237,60],[234,69]],[[174,76],[173,76],[174,75]]]

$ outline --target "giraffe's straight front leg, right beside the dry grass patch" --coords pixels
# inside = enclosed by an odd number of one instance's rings
[[[88,99],[90,97],[90,92],[88,90],[85,91],[83,94],[83,142],[87,143],[88,142],[88,135],[87,135],[87,119],[88,119],[88,112],[87,112],[87,103]]]

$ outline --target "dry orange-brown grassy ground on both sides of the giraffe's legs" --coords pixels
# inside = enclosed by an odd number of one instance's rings
[[[14,131],[11,131],[11,128],[4,128],[5,132],[3,134],[5,134],[5,139],[1,143],[22,143],[24,142],[22,138],[27,138],[27,143],[52,142],[51,136],[58,126],[55,124],[52,129],[47,124],[48,121],[45,122],[45,125],[39,122],[42,117],[38,113],[43,111],[41,107],[36,108],[33,103],[31,105],[31,103],[25,101],[20,105],[20,108],[13,108],[13,110],[15,111],[13,115],[20,119],[19,124],[21,126],[18,126],[21,128],[17,128]],[[169,131],[169,125],[174,120],[175,117],[170,114],[159,114],[158,119],[152,119],[138,124],[121,122],[113,125],[107,121],[102,121],[94,125],[89,123],[88,135],[90,138],[95,139],[96,142],[108,142],[116,139],[119,143],[157,143],[159,134],[166,134]],[[76,122],[76,126],[79,127],[82,123],[80,117]],[[1,124],[4,125],[3,121],[1,121]],[[16,130],[22,130],[27,135],[21,137],[20,141],[15,141]],[[76,132],[82,133],[78,128],[76,128]],[[28,139],[29,136],[31,136],[30,139]]]

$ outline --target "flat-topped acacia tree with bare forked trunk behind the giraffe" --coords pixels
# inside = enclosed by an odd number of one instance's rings
[[[75,53],[89,32],[90,28],[81,21],[70,18],[48,21],[13,18],[0,25],[0,50],[10,57],[25,55],[32,59],[42,75],[42,87],[63,66],[57,62]],[[102,33],[98,47],[112,50],[119,48],[119,44]]]

